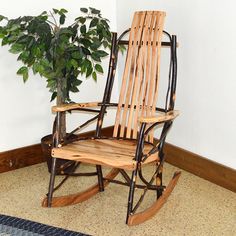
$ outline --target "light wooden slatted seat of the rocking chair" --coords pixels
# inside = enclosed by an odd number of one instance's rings
[[[67,160],[80,161],[134,170],[137,141],[122,139],[87,139],[79,140],[59,148],[52,149],[52,156]],[[152,145],[145,143],[144,154],[152,149]],[[149,156],[143,164],[159,161],[158,153]]]

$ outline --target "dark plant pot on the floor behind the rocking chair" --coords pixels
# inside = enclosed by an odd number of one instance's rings
[[[70,136],[70,139],[75,139],[76,137],[77,137],[76,135],[72,135]],[[42,147],[44,158],[47,161],[48,172],[51,173],[52,135],[47,135],[41,139],[41,147]],[[58,158],[56,162],[56,174],[58,175],[58,174],[65,174],[65,173],[72,172],[74,170],[75,164],[76,164],[75,161],[68,161],[68,160]]]

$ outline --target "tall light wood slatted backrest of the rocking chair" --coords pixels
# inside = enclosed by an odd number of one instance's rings
[[[160,11],[141,11],[134,15],[114,137],[136,139],[138,117],[155,113],[164,18],[165,12]]]

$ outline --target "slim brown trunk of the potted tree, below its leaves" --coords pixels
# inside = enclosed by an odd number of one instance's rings
[[[64,91],[66,91],[66,80],[64,78],[59,78],[57,80],[57,106],[65,103],[65,95]],[[61,115],[61,127],[60,127],[60,139],[63,139],[66,136],[66,114],[65,112]]]

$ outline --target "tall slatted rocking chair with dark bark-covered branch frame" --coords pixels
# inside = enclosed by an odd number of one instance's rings
[[[164,18],[165,13],[160,11],[136,12],[131,29],[125,31],[119,39],[116,33],[113,33],[108,79],[102,102],[66,104],[52,108],[52,111],[57,114],[57,129],[53,134],[54,148],[52,149],[49,193],[43,201],[43,206],[57,207],[76,204],[104,191],[108,183],[117,183],[129,187],[126,223],[135,225],[152,217],[166,202],[178,181],[180,172],[174,174],[168,186],[163,185],[162,170],[165,160],[163,147],[173,120],[179,114],[174,110],[177,78],[176,36],[163,31]],[[129,41],[122,40],[128,32]],[[163,41],[164,34],[168,38],[167,41]],[[118,47],[121,44],[128,45],[123,82],[119,102],[111,103]],[[165,106],[158,108],[156,103],[161,47],[170,48],[170,68],[169,78],[166,80],[168,88]],[[99,110],[93,110],[93,107],[99,107]],[[117,107],[117,113],[113,135],[104,137],[101,135],[101,130],[108,107]],[[59,137],[61,114],[72,110],[98,112],[95,118],[84,124],[87,125],[97,119],[97,128],[93,137],[78,136],[77,140],[73,139],[73,142],[69,142],[67,137]],[[154,138],[154,128],[157,126],[162,130],[160,137]],[[76,161],[78,164],[94,164],[96,172],[87,173],[87,175],[97,175],[98,184],[77,194],[53,197],[53,192],[57,189],[57,187],[54,188],[54,180],[58,158]],[[149,180],[142,172],[148,164],[155,166]],[[102,174],[102,166],[112,167],[105,177]],[[124,182],[115,180],[118,174],[123,176]],[[138,178],[141,183],[137,182]],[[134,205],[135,188],[143,191],[136,205]],[[154,203],[146,210],[137,213],[146,192],[153,190],[156,192]]]

